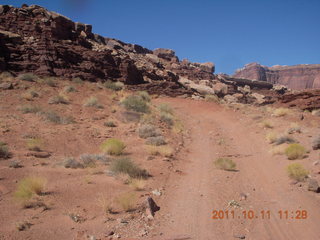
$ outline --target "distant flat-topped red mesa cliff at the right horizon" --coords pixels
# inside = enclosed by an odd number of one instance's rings
[[[320,64],[266,67],[250,63],[237,70],[233,76],[282,84],[296,90],[320,88]]]

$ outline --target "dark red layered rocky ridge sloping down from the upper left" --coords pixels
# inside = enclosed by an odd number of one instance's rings
[[[150,88],[161,85],[169,95],[170,91],[190,93],[179,83],[179,76],[195,81],[214,79],[212,63],[180,61],[170,49],[151,51],[105,38],[93,34],[91,25],[36,5],[0,5],[0,49],[0,71],[14,74],[116,80],[150,84]]]

